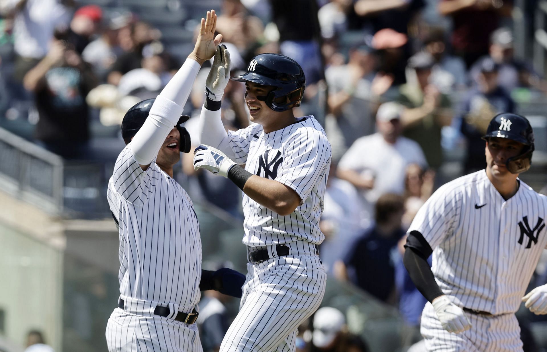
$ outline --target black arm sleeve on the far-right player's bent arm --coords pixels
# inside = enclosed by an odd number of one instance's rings
[[[433,253],[433,250],[422,234],[418,231],[410,232],[406,239],[405,249],[403,263],[418,291],[429,302],[443,295],[443,291],[437,285],[433,272],[427,263],[427,258]]]

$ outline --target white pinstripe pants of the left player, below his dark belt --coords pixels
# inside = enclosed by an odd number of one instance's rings
[[[155,315],[151,313],[155,305],[133,311],[127,301],[145,301],[125,299],[127,311],[116,308],[108,319],[106,341],[110,352],[203,352],[195,324]]]

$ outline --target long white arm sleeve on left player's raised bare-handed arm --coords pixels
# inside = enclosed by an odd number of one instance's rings
[[[165,138],[181,117],[199,69],[200,64],[188,58],[156,97],[148,119],[129,144],[139,165],[149,165],[158,155]]]

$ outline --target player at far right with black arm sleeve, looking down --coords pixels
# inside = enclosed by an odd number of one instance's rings
[[[547,197],[519,179],[531,165],[532,127],[503,113],[483,139],[486,169],[441,186],[409,228],[404,264],[429,301],[421,320],[428,351],[522,351],[521,299],[547,313],[547,286],[522,297],[547,244]]]

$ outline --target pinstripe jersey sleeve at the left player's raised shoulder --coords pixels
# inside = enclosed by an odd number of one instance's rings
[[[129,145],[121,151],[114,165],[113,189],[129,203],[142,206],[154,192],[158,176],[155,158],[146,171],[138,165]]]

